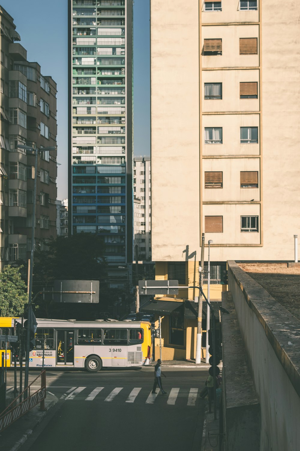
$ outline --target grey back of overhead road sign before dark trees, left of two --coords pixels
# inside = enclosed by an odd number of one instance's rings
[[[54,291],[55,302],[99,303],[99,281],[54,281]]]

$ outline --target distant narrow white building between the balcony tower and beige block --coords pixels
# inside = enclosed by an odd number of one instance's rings
[[[134,158],[134,258],[152,261],[151,163],[149,156]]]

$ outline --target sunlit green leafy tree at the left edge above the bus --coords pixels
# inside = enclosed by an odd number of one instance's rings
[[[7,265],[0,272],[0,316],[20,316],[28,303],[27,286],[20,267]]]

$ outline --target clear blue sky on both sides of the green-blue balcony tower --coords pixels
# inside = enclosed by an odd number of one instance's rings
[[[134,0],[134,154],[150,155],[150,0]],[[0,0],[14,18],[28,61],[57,83],[57,198],[68,197],[67,0]]]

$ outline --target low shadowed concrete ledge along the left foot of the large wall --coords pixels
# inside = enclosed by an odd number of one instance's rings
[[[230,292],[222,293],[223,418],[226,449],[259,450],[260,405],[248,367],[245,347]]]

